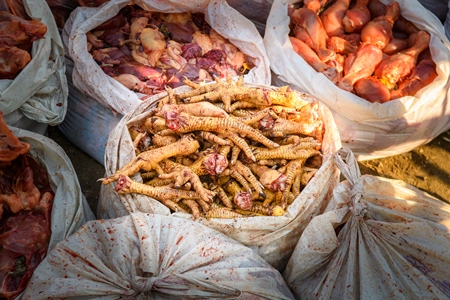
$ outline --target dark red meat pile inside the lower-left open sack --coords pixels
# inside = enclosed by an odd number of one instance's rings
[[[13,299],[44,259],[54,193],[48,173],[6,125],[0,111],[0,297]]]

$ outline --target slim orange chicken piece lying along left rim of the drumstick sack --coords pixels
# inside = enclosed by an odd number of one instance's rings
[[[292,49],[317,72],[322,73],[328,79],[330,79],[333,83],[336,83],[339,80],[339,72],[336,68],[325,64],[323,61],[319,59],[317,54],[310,48],[308,45],[303,43],[301,40],[295,37],[289,37]]]

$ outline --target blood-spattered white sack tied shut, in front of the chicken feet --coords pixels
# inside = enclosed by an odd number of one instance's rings
[[[22,299],[294,299],[250,248],[202,224],[133,213],[88,222],[38,266]]]

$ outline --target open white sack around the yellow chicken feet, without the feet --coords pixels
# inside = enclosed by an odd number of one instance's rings
[[[174,92],[179,93],[189,89],[188,87],[179,87]],[[165,95],[167,94],[164,93],[161,97]],[[311,101],[313,98],[305,95],[304,99]],[[143,102],[135,111],[126,114],[111,131],[105,149],[105,177],[114,174],[136,157],[128,128],[133,124],[144,122],[151,111],[150,108],[155,103]],[[322,142],[322,164],[311,181],[286,209],[283,216],[196,219],[252,248],[280,271],[284,269],[303,228],[312,216],[322,212],[333,187],[338,183],[339,175],[332,155],[340,148],[339,134],[329,110],[320,103],[319,110],[325,128]],[[136,173],[133,178],[142,182],[139,173]],[[97,209],[99,217],[116,218],[138,211],[162,215],[171,214],[168,207],[146,195],[118,194],[114,190],[115,185],[116,183],[102,185]],[[191,214],[183,212],[175,212],[172,215],[180,218],[192,218]]]

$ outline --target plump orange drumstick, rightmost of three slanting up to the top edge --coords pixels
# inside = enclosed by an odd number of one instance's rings
[[[361,40],[384,49],[393,38],[392,27],[399,16],[400,6],[398,2],[388,4],[384,16],[377,17],[364,26],[361,30]]]

